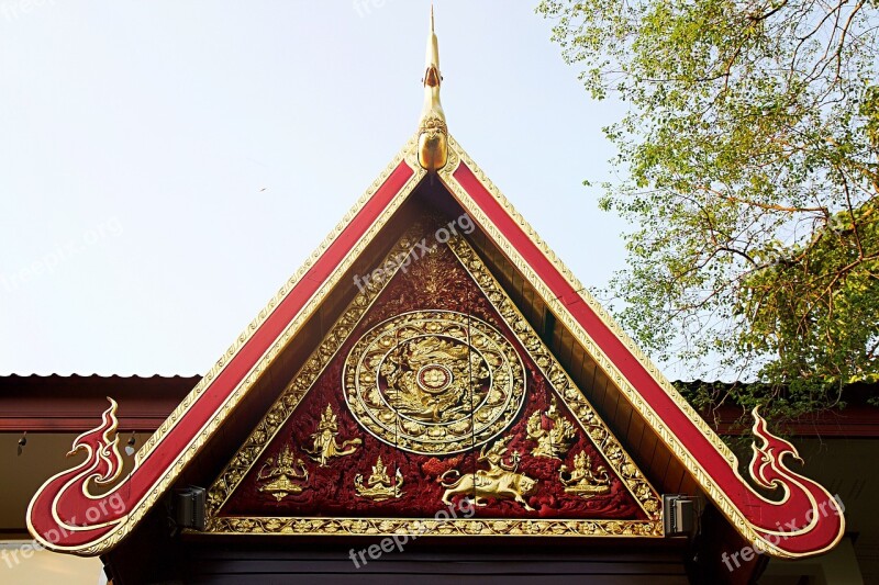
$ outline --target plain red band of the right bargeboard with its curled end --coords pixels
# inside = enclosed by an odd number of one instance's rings
[[[793,491],[783,506],[767,504],[755,497],[754,492],[736,475],[730,463],[702,435],[690,417],[678,407],[663,386],[616,337],[616,334],[582,301],[579,292],[574,290],[567,279],[534,245],[522,226],[507,213],[464,161],[455,170],[454,178],[534,269],[549,288],[552,294],[567,306],[574,318],[626,376],[636,392],[659,416],[663,424],[674,431],[712,481],[721,486],[733,504],[755,527],[777,530],[777,522],[782,528],[789,521],[793,521],[798,526],[805,522],[804,515],[812,509],[810,496],[815,499],[826,499],[825,492],[821,486],[812,484],[804,491]],[[485,228],[485,226],[482,227]],[[803,537],[791,537],[785,540],[785,550],[799,554],[820,551],[832,545],[841,533],[842,520],[838,517],[827,518],[827,520],[819,522],[815,529]]]

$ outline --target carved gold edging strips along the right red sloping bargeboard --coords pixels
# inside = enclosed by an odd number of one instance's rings
[[[683,396],[671,385],[668,379],[661,371],[654,364],[650,359],[637,347],[635,341],[620,327],[620,325],[610,316],[610,314],[598,303],[598,301],[589,293],[586,286],[577,280],[570,269],[553,252],[543,239],[537,235],[534,228],[522,217],[522,215],[513,207],[510,201],[500,192],[500,190],[490,181],[486,173],[474,162],[467,155],[461,146],[455,138],[448,136],[449,153],[454,151],[459,161],[464,161],[467,167],[474,172],[476,179],[482,187],[491,194],[492,198],[501,205],[504,212],[515,221],[528,239],[534,246],[544,255],[544,257],[558,270],[569,286],[579,295],[580,300],[591,308],[591,311],[601,319],[601,322],[623,342],[626,349],[644,369],[650,374],[654,381],[668,394],[675,404],[692,420],[693,425],[702,432],[709,442],[716,449],[716,451],[728,462],[732,471],[736,477],[759,499],[776,504],[775,502],[764,497],[755,492],[738,472],[738,459],[723,442],[723,440],[714,432],[709,424],[696,412],[696,409],[687,402]],[[644,420],[650,428],[659,436],[663,442],[669,448],[671,453],[685,465],[685,468],[692,474],[697,483],[705,491],[715,505],[726,516],[730,522],[738,530],[738,532],[750,542],[760,542],[760,548],[770,554],[783,558],[800,558],[812,556],[821,552],[830,550],[834,544],[821,551],[812,551],[805,554],[795,554],[783,551],[772,543],[768,542],[757,532],[756,527],[752,525],[741,513],[741,510],[732,503],[730,496],[711,479],[709,473],[699,463],[699,460],[689,451],[689,449],[678,439],[675,432],[668,428],[663,419],[656,414],[653,407],[647,404],[641,396],[641,393],[634,387],[628,379],[616,368],[610,360],[603,349],[596,344],[592,337],[580,326],[574,315],[568,311],[568,307],[543,282],[539,275],[522,257],[519,250],[507,239],[503,233],[489,220],[488,215],[476,204],[472,198],[467,193],[467,190],[455,179],[454,172],[458,165],[446,166],[438,175],[443,183],[448,188],[458,199],[464,206],[464,210],[471,214],[471,216],[481,225],[492,241],[503,251],[510,259],[513,266],[522,273],[525,280],[534,288],[541,295],[546,305],[553,311],[556,318],[563,323],[571,335],[577,339],[583,350],[592,356],[598,365],[604,371],[608,378],[620,389],[626,400],[633,407],[641,414]],[[828,498],[831,495],[821,487]],[[841,518],[841,521],[845,521]],[[842,536],[842,531],[839,537]],[[836,539],[838,541],[838,538]]]

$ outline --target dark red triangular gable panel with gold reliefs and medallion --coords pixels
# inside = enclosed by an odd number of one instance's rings
[[[447,225],[377,262],[208,490],[209,532],[663,536],[656,491]]]

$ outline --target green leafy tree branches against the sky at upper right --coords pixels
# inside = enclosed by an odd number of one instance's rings
[[[591,95],[630,104],[600,201],[628,268],[600,295],[645,349],[776,414],[879,379],[879,0],[537,10]]]

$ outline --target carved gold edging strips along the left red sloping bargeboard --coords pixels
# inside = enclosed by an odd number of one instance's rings
[[[275,357],[286,347],[290,339],[300,329],[312,315],[312,313],[320,307],[323,300],[329,292],[336,285],[342,275],[345,273],[363,250],[372,241],[378,232],[387,224],[391,215],[399,209],[399,206],[407,200],[409,194],[421,182],[426,172],[418,166],[413,167],[411,160],[416,154],[418,135],[412,136],[403,146],[403,148],[394,156],[393,160],[388,167],[372,181],[372,184],[360,195],[352,209],[343,216],[342,221],[336,227],[324,238],[321,245],[309,256],[302,263],[299,270],[285,283],[278,293],[269,301],[269,303],[259,312],[257,317],[251,322],[247,328],[237,337],[234,344],[230,346],[226,352],[218,360],[218,362],[204,374],[204,378],[193,387],[183,401],[168,415],[168,418],[159,426],[153,436],[144,443],[140,451],[135,454],[134,468],[131,473],[140,468],[141,463],[160,445],[170,430],[176,427],[183,418],[187,412],[197,402],[199,396],[210,387],[211,383],[222,372],[225,367],[233,360],[241,349],[247,344],[253,335],[265,323],[268,316],[280,305],[287,295],[293,290],[300,280],[308,273],[314,263],[321,258],[326,249],[335,241],[335,239],[348,227],[357,214],[363,211],[367,202],[376,194],[378,189],[391,176],[397,167],[403,160],[412,169],[412,177],[409,178],[407,183],[393,195],[390,203],[382,210],[381,214],[372,222],[369,228],[358,239],[358,241],[348,250],[342,259],[336,269],[331,273],[327,279],[321,284],[320,289],[312,295],[311,299],[303,305],[299,314],[290,320],[285,327],[283,331],[278,336],[275,342],[269,347],[249,372],[235,386],[233,392],[226,397],[223,404],[214,412],[210,421],[203,425],[198,434],[190,440],[190,442],[180,450],[177,458],[167,466],[166,471],[156,480],[151,491],[141,498],[113,531],[109,532],[101,539],[82,548],[63,548],[66,552],[75,552],[80,555],[97,555],[115,547],[129,532],[131,532],[137,522],[146,515],[146,513],[156,504],[168,487],[174,483],[177,476],[183,471],[189,462],[196,454],[204,447],[208,439],[216,431],[222,423],[229,417],[234,407],[241,402],[244,395],[253,387],[259,376],[265,372]],[[415,158],[416,160],[416,158]]]

